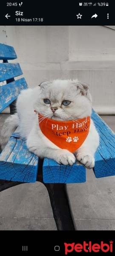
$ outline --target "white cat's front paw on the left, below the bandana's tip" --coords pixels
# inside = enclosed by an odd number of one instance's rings
[[[73,165],[75,163],[75,156],[68,150],[62,149],[56,161],[64,165]]]

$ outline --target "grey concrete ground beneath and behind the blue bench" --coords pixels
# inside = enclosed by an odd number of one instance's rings
[[[7,116],[0,114],[0,129]],[[115,131],[115,116],[101,118]],[[115,176],[97,179],[92,170],[86,173],[86,183],[68,184],[77,229],[115,230]],[[0,230],[57,230],[42,183],[20,184],[0,193]]]

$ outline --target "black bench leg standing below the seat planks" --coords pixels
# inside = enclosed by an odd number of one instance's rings
[[[66,184],[43,184],[49,193],[57,230],[77,230]]]

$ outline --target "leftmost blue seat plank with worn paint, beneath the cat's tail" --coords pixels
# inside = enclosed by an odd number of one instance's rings
[[[0,179],[33,183],[37,169],[38,157],[29,152],[26,142],[14,133],[0,154]]]

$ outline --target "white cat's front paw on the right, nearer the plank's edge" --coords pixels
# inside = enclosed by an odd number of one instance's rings
[[[77,159],[88,169],[92,169],[95,166],[95,159],[91,154],[78,153]]]

